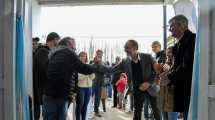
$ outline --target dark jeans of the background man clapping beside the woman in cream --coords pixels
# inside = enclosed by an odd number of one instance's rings
[[[100,100],[101,100],[101,91],[102,91],[101,86],[93,86],[93,94],[95,94],[95,100],[94,100],[94,112],[95,113],[99,112],[99,105],[100,105]]]

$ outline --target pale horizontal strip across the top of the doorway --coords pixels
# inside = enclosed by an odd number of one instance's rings
[[[163,4],[174,0],[37,0],[40,5]]]

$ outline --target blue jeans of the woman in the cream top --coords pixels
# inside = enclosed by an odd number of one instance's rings
[[[76,99],[76,120],[86,120],[92,88],[80,88]]]

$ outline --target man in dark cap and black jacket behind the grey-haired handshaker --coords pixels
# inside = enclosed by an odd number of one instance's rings
[[[42,105],[42,94],[44,84],[47,81],[48,54],[50,49],[57,45],[60,36],[51,32],[46,39],[46,46],[38,46],[33,56],[33,94],[34,94],[34,119],[40,118],[40,105]]]

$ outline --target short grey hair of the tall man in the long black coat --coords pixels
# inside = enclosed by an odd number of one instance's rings
[[[184,15],[176,15],[169,20],[169,24],[173,21],[181,25],[184,29],[188,29],[188,19]]]

